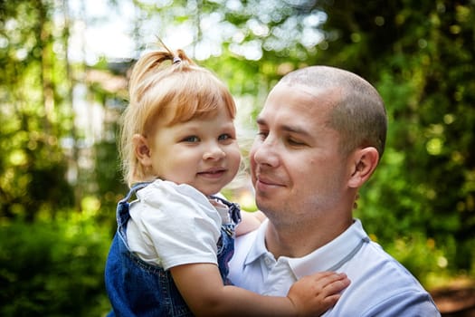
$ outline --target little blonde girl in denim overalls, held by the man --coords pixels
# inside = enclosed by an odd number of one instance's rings
[[[129,94],[121,158],[131,189],[119,202],[106,264],[110,315],[317,315],[336,303],[349,283],[344,274],[303,278],[287,297],[228,281],[241,216],[214,195],[236,175],[241,153],[223,83],[166,49],[139,59]]]

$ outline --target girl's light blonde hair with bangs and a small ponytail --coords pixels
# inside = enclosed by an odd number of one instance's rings
[[[128,92],[130,100],[122,115],[119,145],[128,186],[152,177],[137,159],[135,134],[153,135],[154,123],[162,118],[173,125],[213,115],[221,105],[232,119],[236,114],[233,96],[223,82],[182,50],[174,53],[165,47],[143,55],[133,68]]]

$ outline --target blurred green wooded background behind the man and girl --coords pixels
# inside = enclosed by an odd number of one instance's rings
[[[244,155],[286,72],[372,82],[387,149],[356,216],[428,290],[473,287],[474,21],[473,0],[0,0],[0,315],[108,312],[118,119],[157,38],[229,85]],[[225,194],[254,208],[245,178]]]

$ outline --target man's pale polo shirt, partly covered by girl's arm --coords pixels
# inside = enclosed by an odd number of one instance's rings
[[[300,277],[321,271],[347,274],[351,284],[324,316],[440,316],[422,285],[366,235],[361,222],[313,253],[275,259],[265,247],[268,220],[236,239],[230,280],[265,295],[285,296]],[[318,230],[318,229],[316,229]]]

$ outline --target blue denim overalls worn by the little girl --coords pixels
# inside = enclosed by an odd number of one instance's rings
[[[112,311],[109,316],[193,316],[178,292],[172,275],[162,267],[148,264],[128,250],[127,223],[130,218],[128,200],[149,183],[133,186],[117,207],[118,230],[106,263],[105,281]],[[231,223],[221,226],[218,241],[218,265],[223,283],[227,279],[228,262],[234,252],[234,227],[241,221],[240,209],[220,197],[213,197],[229,207]],[[216,211],[217,212],[217,211]]]

